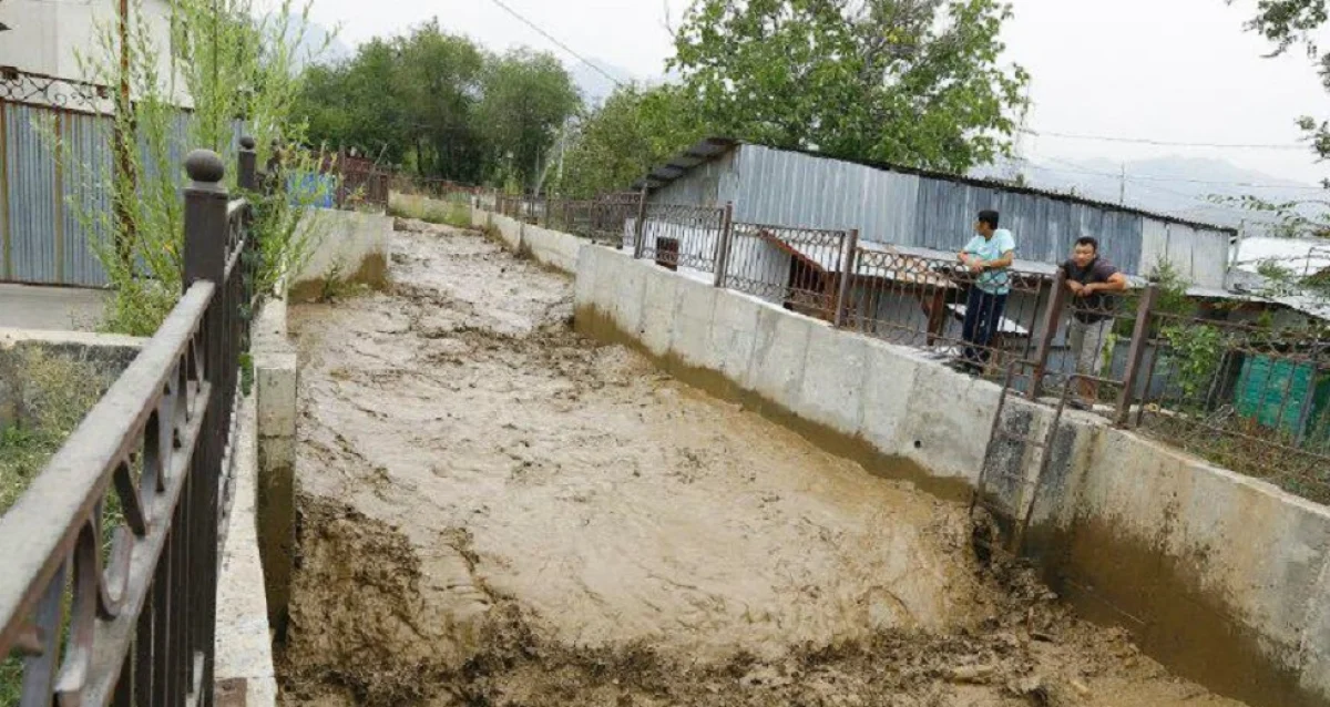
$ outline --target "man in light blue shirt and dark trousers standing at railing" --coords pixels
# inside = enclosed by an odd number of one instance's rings
[[[979,211],[975,237],[956,254],[956,259],[974,278],[962,326],[966,350],[960,365],[966,371],[982,373],[988,363],[988,346],[998,334],[1003,310],[1007,308],[1007,295],[1011,292],[1008,268],[1015,258],[1016,239],[1007,229],[998,227],[998,211]]]

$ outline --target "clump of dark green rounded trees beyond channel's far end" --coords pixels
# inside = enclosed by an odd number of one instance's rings
[[[298,113],[309,137],[458,182],[533,185],[581,98],[551,54],[492,56],[438,21],[310,66]]]

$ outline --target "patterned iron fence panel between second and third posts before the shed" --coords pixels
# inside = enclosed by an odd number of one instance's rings
[[[833,320],[850,231],[734,223],[722,286]]]

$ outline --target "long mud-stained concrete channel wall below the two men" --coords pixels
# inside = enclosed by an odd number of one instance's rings
[[[576,271],[579,331],[633,346],[872,473],[970,497],[998,385],[608,249],[581,247]],[[1051,417],[1012,400],[1001,425],[1041,437]],[[1084,413],[1064,415],[1051,449],[1027,552],[1055,590],[1213,690],[1253,706],[1330,704],[1325,506]],[[1016,443],[999,452],[990,464],[1013,478],[998,502],[1021,508],[1037,454]]]

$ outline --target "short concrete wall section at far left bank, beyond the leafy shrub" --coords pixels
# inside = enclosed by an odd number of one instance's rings
[[[392,218],[363,211],[315,209],[301,225],[314,243],[309,259],[290,278],[291,299],[317,299],[329,280],[370,287],[388,282]]]

